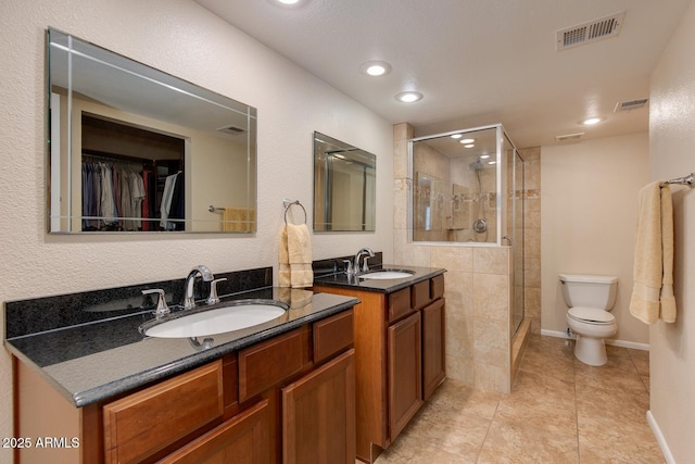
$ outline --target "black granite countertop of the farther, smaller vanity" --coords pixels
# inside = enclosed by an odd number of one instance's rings
[[[361,275],[363,274],[349,276],[344,272],[340,272],[316,277],[314,278],[314,285],[354,288],[367,291],[378,291],[381,293],[393,293],[394,291],[409,287],[413,284],[437,277],[446,272],[446,269],[444,268],[404,266],[401,264],[381,264],[371,268],[370,272],[378,271],[405,271],[412,273],[413,275],[410,277],[395,279],[364,279],[361,277]]]

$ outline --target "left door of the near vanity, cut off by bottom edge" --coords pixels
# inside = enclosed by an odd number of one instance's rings
[[[160,464],[268,464],[270,462],[268,401],[230,418]]]

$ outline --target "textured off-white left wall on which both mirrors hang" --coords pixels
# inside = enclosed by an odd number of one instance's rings
[[[367,246],[391,261],[391,123],[189,0],[3,1],[1,9],[0,301],[182,278],[199,263],[213,271],[277,267],[282,199],[302,201],[311,221],[314,130],[375,153],[378,190],[376,233],[314,235],[314,258]],[[256,106],[257,234],[48,236],[48,26]],[[12,437],[10,356],[0,351],[0,436]],[[11,462],[10,450],[0,449],[0,462]]]

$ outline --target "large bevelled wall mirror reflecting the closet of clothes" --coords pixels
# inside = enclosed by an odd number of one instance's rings
[[[50,233],[253,233],[256,110],[48,30]]]

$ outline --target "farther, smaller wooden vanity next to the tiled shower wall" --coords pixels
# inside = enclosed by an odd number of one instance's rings
[[[315,291],[361,301],[354,308],[356,440],[357,457],[369,463],[445,377],[445,269],[396,267],[408,276],[366,279],[336,273],[314,280]]]

